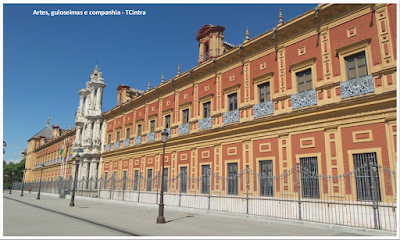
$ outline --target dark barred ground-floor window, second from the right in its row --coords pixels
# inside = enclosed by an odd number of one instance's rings
[[[301,188],[304,198],[319,198],[318,158],[300,158]]]

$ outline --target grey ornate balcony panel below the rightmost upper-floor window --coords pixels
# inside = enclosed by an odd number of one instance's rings
[[[375,92],[372,75],[354,78],[340,83],[340,95],[343,98]]]

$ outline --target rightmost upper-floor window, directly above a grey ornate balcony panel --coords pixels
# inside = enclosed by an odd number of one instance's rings
[[[365,52],[345,57],[344,60],[346,61],[347,79],[358,78],[368,74]]]

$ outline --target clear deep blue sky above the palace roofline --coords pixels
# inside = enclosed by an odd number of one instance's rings
[[[74,127],[81,88],[96,62],[103,72],[103,111],[116,105],[120,84],[145,90],[197,65],[197,31],[225,27],[239,45],[317,4],[3,4],[3,158],[19,161],[27,140],[46,126]],[[120,16],[36,16],[34,10],[119,10]],[[145,16],[126,16],[126,9]]]

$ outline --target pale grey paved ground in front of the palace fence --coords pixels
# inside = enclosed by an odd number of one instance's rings
[[[33,232],[35,228],[21,231],[32,225],[32,219],[35,224],[43,221],[46,236],[77,236],[76,232],[60,231],[57,227],[76,224],[81,224],[81,236],[396,236],[395,232],[373,229],[170,206],[165,206],[166,224],[157,224],[156,204],[78,196],[75,207],[70,207],[69,195],[63,199],[55,194],[41,193],[41,199],[36,200],[36,192],[24,192],[23,197],[20,193],[3,193],[3,209],[7,209],[3,213],[4,236],[39,236]],[[12,208],[23,208],[24,211],[14,214]],[[43,217],[49,213],[57,221]],[[37,215],[42,217],[32,218]],[[18,228],[8,222],[18,222]]]

